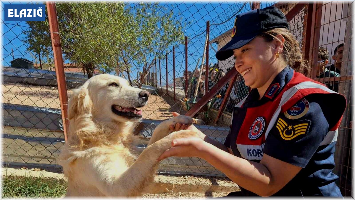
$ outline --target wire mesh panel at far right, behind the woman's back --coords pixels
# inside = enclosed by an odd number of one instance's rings
[[[353,165],[351,154],[351,135],[353,121],[352,90],[352,55],[350,50],[353,14],[352,2],[323,2],[320,28],[319,46],[317,52],[318,63],[315,69],[315,80],[322,82],[329,89],[343,94],[347,100],[342,123],[338,129],[338,141],[335,150],[335,169],[339,178],[337,185],[344,196],[354,196]],[[329,102],[329,105],[337,102]]]

